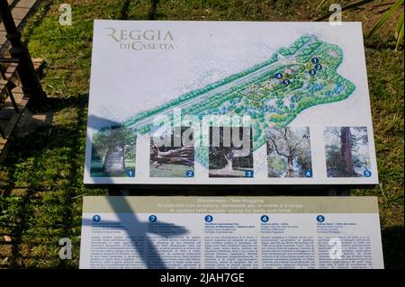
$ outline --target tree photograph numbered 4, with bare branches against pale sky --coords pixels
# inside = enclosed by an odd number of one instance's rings
[[[268,177],[311,177],[309,128],[271,128],[266,132]]]

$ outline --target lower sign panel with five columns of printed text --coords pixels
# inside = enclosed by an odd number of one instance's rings
[[[85,197],[80,268],[383,268],[376,197]]]

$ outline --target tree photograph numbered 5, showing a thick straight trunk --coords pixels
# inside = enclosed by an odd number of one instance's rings
[[[366,127],[329,127],[324,136],[328,177],[370,176]]]

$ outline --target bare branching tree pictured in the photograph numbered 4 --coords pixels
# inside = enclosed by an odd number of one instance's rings
[[[294,176],[294,161],[311,158],[310,129],[273,128],[267,134],[267,154],[275,152],[287,162],[287,177]]]

